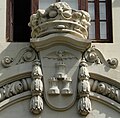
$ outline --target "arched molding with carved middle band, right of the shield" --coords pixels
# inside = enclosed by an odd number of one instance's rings
[[[91,98],[120,112],[120,83],[114,78],[90,73]]]

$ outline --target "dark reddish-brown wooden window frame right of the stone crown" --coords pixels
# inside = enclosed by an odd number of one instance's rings
[[[92,2],[92,1],[91,1]],[[113,43],[112,32],[112,1],[105,0],[106,3],[106,39],[100,39],[100,15],[99,15],[99,3],[103,1],[95,0],[95,39],[91,39],[95,43]]]

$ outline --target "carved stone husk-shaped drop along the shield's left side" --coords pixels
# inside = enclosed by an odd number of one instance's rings
[[[30,110],[34,114],[39,114],[43,110],[43,82],[42,82],[42,70],[40,67],[39,60],[34,61],[33,71],[32,71],[32,84],[31,84],[31,92],[32,98],[30,101]]]

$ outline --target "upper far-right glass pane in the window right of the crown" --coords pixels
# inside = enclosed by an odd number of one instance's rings
[[[106,20],[106,4],[100,3],[100,20]]]

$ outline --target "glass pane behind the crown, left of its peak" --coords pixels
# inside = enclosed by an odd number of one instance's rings
[[[50,4],[55,3],[56,0],[39,0],[39,8],[46,9]]]

